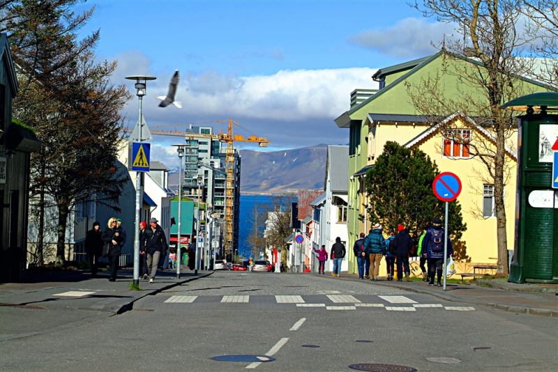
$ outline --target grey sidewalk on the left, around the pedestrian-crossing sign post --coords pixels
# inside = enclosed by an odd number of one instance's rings
[[[147,295],[206,277],[212,272],[199,271],[197,276],[181,266],[181,279],[176,279],[176,269],[158,270],[153,283],[140,279],[142,290],[130,290],[133,269],[118,271],[116,281],[108,281],[107,271],[99,271],[96,278],[89,271],[44,271],[27,274],[24,283],[0,284],[0,307],[44,309],[82,309],[119,314],[132,309],[133,303]]]

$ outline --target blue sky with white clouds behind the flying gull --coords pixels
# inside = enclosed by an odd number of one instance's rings
[[[349,109],[355,88],[376,88],[377,68],[435,53],[430,44],[444,33],[458,37],[405,1],[96,0],[76,10],[91,6],[82,35],[100,29],[98,58],[119,61],[113,82],[133,90],[125,76],[157,77],[144,98],[149,127],[232,118],[269,137],[270,150],[347,144],[348,130],[333,119]],[[183,109],[162,109],[155,97],[174,70]],[[133,126],[137,98],[125,111]],[[167,145],[180,141],[154,137],[153,159],[172,163],[176,150]]]

